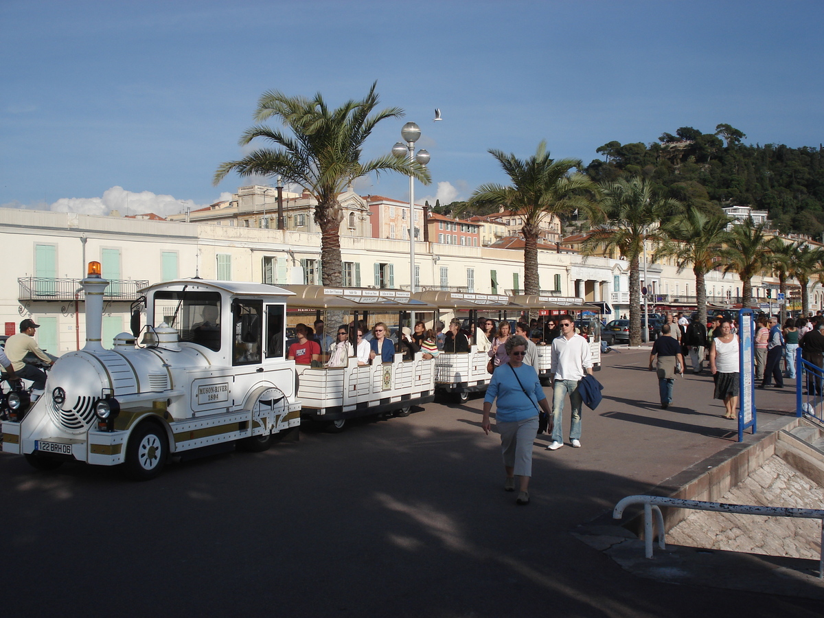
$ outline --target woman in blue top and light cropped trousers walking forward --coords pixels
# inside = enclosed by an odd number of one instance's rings
[[[532,475],[532,443],[538,434],[538,406],[550,414],[550,405],[535,368],[523,363],[527,339],[513,335],[505,344],[509,362],[492,374],[484,398],[484,419],[481,428],[489,435],[489,412],[498,400],[495,420],[501,434],[503,469],[507,478],[503,489],[515,490],[515,476],[520,476],[516,502],[529,503],[529,478]],[[551,416],[550,416],[551,418]]]

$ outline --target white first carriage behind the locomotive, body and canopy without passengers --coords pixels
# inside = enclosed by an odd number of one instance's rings
[[[328,431],[344,428],[347,419],[370,414],[405,416],[413,405],[434,399],[434,360],[420,352],[404,359],[400,351],[403,327],[414,324],[414,317],[431,323],[436,307],[411,298],[403,290],[371,288],[324,288],[315,285],[284,286],[294,295],[289,298],[287,329],[322,322],[321,358],[316,363],[299,364],[297,396],[302,401],[302,416],[324,423]],[[360,324],[368,339],[376,323],[389,329],[387,339],[395,346],[391,362],[359,364],[356,353],[357,328]],[[353,343],[343,367],[329,367],[330,344],[339,328],[348,330]],[[316,334],[317,335],[317,334]],[[407,354],[407,356],[409,356]],[[315,365],[315,366],[312,366]]]

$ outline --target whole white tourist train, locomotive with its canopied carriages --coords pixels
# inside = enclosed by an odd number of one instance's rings
[[[263,451],[297,439],[302,418],[335,432],[358,416],[405,416],[438,390],[464,399],[489,384],[487,354],[473,341],[468,353],[433,358],[404,349],[403,330],[456,317],[471,325],[472,338],[479,316],[510,320],[534,308],[498,296],[180,279],[145,288],[147,325],[136,307],[133,332],[105,349],[109,282],[100,273],[91,262],[82,281],[85,347],[59,358],[34,403],[5,401],[2,450],[39,469],[84,461],[146,480],[171,456],[232,442]],[[291,344],[308,328],[319,344],[298,356],[303,344]],[[388,335],[383,360],[358,358],[372,330]],[[343,355],[333,353],[338,338],[352,343]]]

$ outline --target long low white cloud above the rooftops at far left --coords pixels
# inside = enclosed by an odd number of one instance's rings
[[[232,194],[223,192],[220,201],[232,199]],[[153,194],[151,191],[135,193],[123,187],[115,186],[106,190],[100,198],[61,198],[54,204],[21,204],[9,202],[2,204],[2,208],[26,208],[36,210],[51,210],[56,213],[81,213],[91,215],[108,215],[117,211],[121,217],[133,214],[155,213],[161,217],[170,214],[183,213],[186,208],[195,210],[204,208],[208,204],[195,204],[191,199],[176,199],[171,195]]]

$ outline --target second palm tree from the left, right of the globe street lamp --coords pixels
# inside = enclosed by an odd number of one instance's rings
[[[481,185],[471,195],[467,206],[503,205],[523,218],[524,292],[540,293],[538,237],[541,220],[571,213],[575,208],[587,210],[592,205],[597,185],[580,172],[569,173],[574,167],[581,166],[577,159],[550,159],[545,141],[538,144],[535,154],[526,161],[491,148],[489,154],[501,164],[512,185]]]

